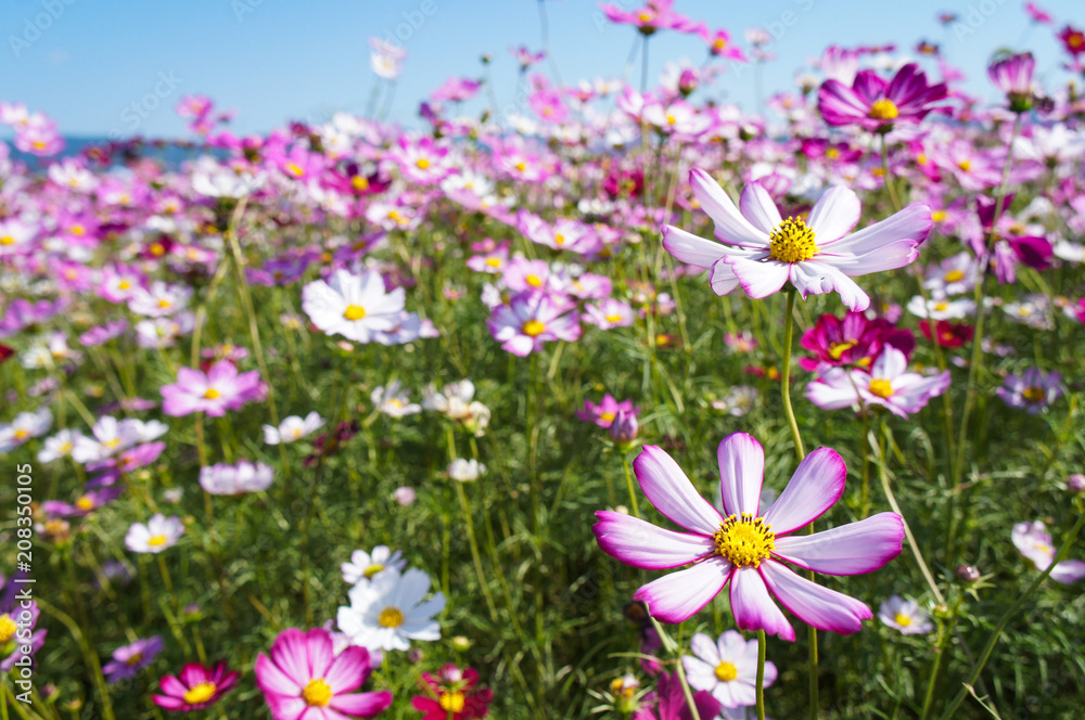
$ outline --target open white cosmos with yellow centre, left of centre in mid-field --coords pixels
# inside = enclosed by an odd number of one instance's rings
[[[331,282],[317,280],[302,290],[302,309],[327,334],[369,343],[375,333],[399,323],[404,295],[403,287],[385,293],[384,279],[375,270],[360,275],[336,270]]]

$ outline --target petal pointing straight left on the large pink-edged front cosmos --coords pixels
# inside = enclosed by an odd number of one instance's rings
[[[711,536],[688,535],[655,527],[651,523],[609,511],[596,513],[592,526],[603,552],[626,565],[660,570],[689,565],[716,551]]]

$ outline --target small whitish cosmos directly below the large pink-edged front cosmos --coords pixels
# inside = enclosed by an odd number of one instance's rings
[[[690,687],[706,690],[724,707],[757,704],[757,641],[728,630],[713,642],[699,632],[690,640],[693,655],[681,658]],[[776,682],[776,665],[765,663],[765,687]]]

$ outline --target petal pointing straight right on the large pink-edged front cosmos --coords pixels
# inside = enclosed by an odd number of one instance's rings
[[[904,520],[896,513],[879,513],[814,535],[777,538],[774,555],[815,573],[859,575],[873,573],[901,554]]]

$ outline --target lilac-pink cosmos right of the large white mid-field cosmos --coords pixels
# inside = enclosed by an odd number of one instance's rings
[[[575,343],[580,337],[576,304],[563,295],[528,291],[494,308],[487,324],[494,339],[513,355],[526,357],[547,340]]]

